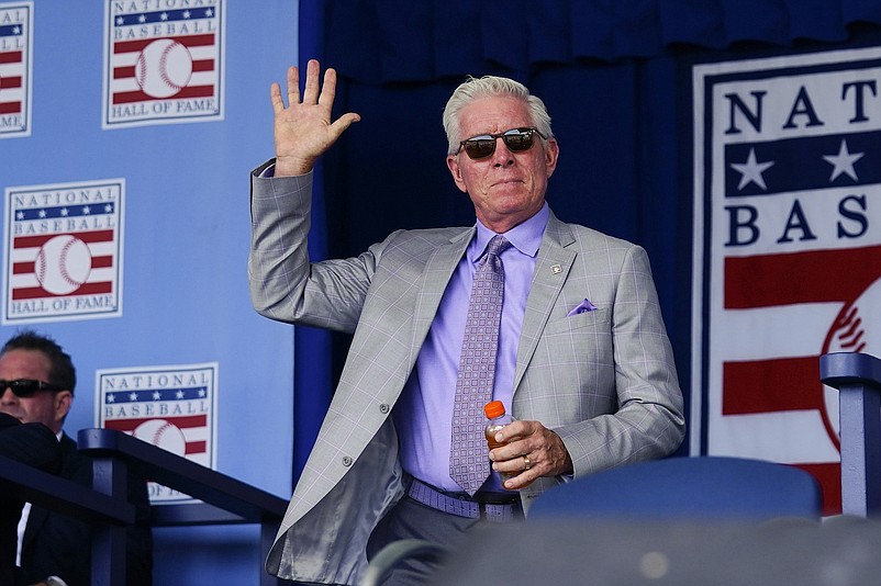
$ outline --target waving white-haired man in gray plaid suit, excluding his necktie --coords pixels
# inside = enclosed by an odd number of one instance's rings
[[[287,105],[272,84],[276,158],[252,176],[252,300],[272,319],[354,339],[270,573],[355,584],[390,541],[454,543],[481,523],[528,515],[561,482],[679,447],[682,394],[647,256],[550,212],[559,147],[540,100],[487,77],[447,103],[446,162],[475,225],[399,230],[358,257],[310,262],[313,164],[359,117],[331,120],[333,69],[322,82],[310,61],[302,95],[299,82],[290,68]],[[471,493],[449,472],[454,396],[469,291],[495,235],[512,246],[500,253],[492,398],[517,420],[497,437],[505,444],[486,455],[493,472]]]

